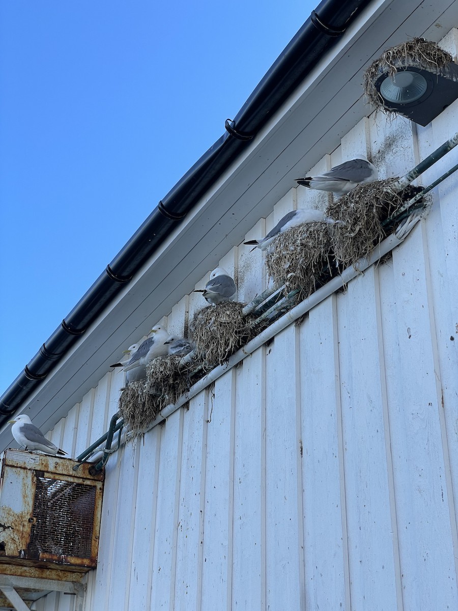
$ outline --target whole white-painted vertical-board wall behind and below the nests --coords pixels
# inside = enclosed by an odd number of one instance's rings
[[[313,170],[367,151],[380,178],[404,174],[456,131],[457,115],[454,103],[426,128],[371,115]],[[448,178],[391,260],[110,459],[86,611],[457,608],[457,193]],[[291,189],[247,239],[326,203]],[[239,301],[265,288],[260,252],[234,247],[222,265]],[[202,305],[185,296],[169,331]],[[122,386],[107,373],[52,441],[82,452]],[[53,593],[36,608],[72,605]]]

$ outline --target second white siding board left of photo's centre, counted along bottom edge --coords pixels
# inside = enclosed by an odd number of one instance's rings
[[[181,456],[180,507],[178,509],[178,539],[176,541],[176,574],[174,609],[199,609],[197,600],[198,576],[202,567],[200,496],[202,475],[205,470],[205,432],[203,421],[207,414],[206,389],[189,401],[189,411],[183,420],[183,454]]]

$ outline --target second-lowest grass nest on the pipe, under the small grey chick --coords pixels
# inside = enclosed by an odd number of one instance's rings
[[[159,356],[147,365],[146,390],[154,395],[157,411],[176,403],[192,386],[192,361],[180,367],[181,356]],[[157,412],[156,412],[157,413]]]

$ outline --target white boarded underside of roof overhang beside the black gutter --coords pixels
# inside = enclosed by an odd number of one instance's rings
[[[335,150],[341,137],[370,114],[363,100],[363,71],[383,49],[418,35],[438,41],[454,24],[456,0],[370,4],[21,411],[30,409],[36,425],[52,428],[98,384],[126,345],[167,315],[258,219],[272,211],[296,185],[297,176]],[[4,426],[0,447],[11,442],[10,427]]]

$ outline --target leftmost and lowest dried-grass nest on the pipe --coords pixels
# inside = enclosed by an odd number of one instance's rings
[[[159,412],[157,398],[150,395],[143,380],[131,382],[121,389],[119,412],[132,436],[144,434]]]

